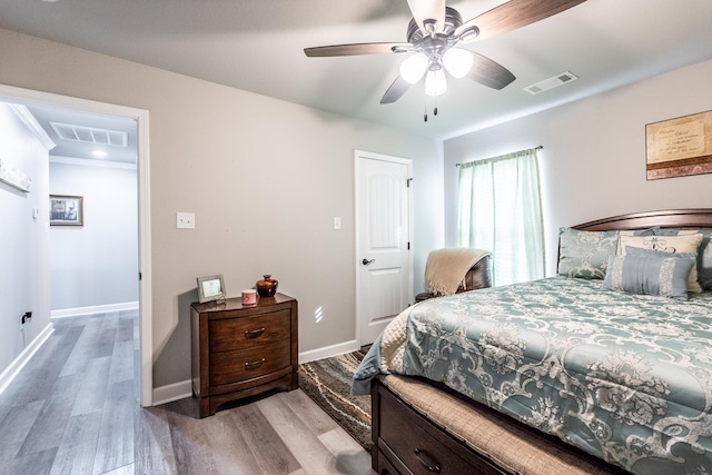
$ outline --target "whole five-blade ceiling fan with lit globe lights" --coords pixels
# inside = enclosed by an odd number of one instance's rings
[[[395,102],[423,76],[425,93],[442,95],[447,89],[445,71],[455,78],[468,77],[484,86],[502,89],[515,79],[510,70],[490,58],[456,47],[525,27],[585,0],[510,0],[465,22],[457,10],[445,6],[445,0],[407,1],[413,14],[407,42],[334,44],[305,48],[304,52],[308,57],[414,53],[400,63],[400,73],[380,103]]]

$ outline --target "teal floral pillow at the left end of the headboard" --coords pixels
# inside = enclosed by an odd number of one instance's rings
[[[558,231],[558,275],[582,279],[602,279],[609,256],[615,254],[619,231]]]

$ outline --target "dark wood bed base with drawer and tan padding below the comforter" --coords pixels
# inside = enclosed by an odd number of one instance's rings
[[[374,382],[372,424],[372,465],[379,475],[625,474],[487,407],[408,377]]]

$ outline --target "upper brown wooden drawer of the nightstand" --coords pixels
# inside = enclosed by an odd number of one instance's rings
[[[287,309],[254,317],[212,319],[208,324],[210,353],[288,339],[291,333],[289,317]]]

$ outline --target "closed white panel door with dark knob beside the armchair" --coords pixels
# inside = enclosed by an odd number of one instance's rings
[[[411,161],[356,151],[357,320],[373,343],[411,303]]]

